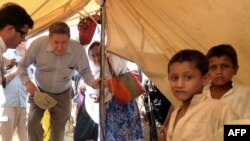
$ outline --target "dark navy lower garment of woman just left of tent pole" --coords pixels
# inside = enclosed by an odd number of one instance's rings
[[[89,116],[86,111],[85,103],[79,109],[74,131],[74,141],[85,141],[98,139],[98,124]]]

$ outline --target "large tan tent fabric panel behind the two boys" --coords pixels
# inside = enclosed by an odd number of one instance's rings
[[[233,45],[240,66],[235,81],[249,85],[249,6],[248,0],[107,0],[107,49],[137,63],[174,105],[167,64],[181,49],[206,53]]]

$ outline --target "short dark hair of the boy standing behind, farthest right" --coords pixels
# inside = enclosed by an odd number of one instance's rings
[[[233,46],[229,44],[220,44],[212,47],[210,50],[208,50],[206,56],[208,59],[210,59],[212,57],[221,57],[223,55],[226,55],[230,58],[233,63],[233,67],[238,66],[237,53]]]

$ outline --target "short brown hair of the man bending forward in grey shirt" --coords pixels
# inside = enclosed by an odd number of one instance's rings
[[[49,36],[51,37],[52,34],[65,34],[70,38],[70,28],[64,22],[55,22],[50,25],[49,27]]]

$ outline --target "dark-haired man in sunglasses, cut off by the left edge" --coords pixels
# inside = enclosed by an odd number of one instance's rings
[[[6,84],[4,68],[10,65],[9,62],[15,62],[3,59],[3,53],[8,48],[15,49],[19,43],[25,41],[25,36],[33,25],[33,20],[23,7],[15,3],[6,3],[0,7],[0,140],[2,141],[12,140],[13,132],[11,133],[11,129],[18,120],[16,117],[18,113],[26,110],[18,107],[10,108],[5,105],[6,99],[3,98],[5,95],[3,87]],[[19,139],[20,141],[26,141],[27,137]]]

